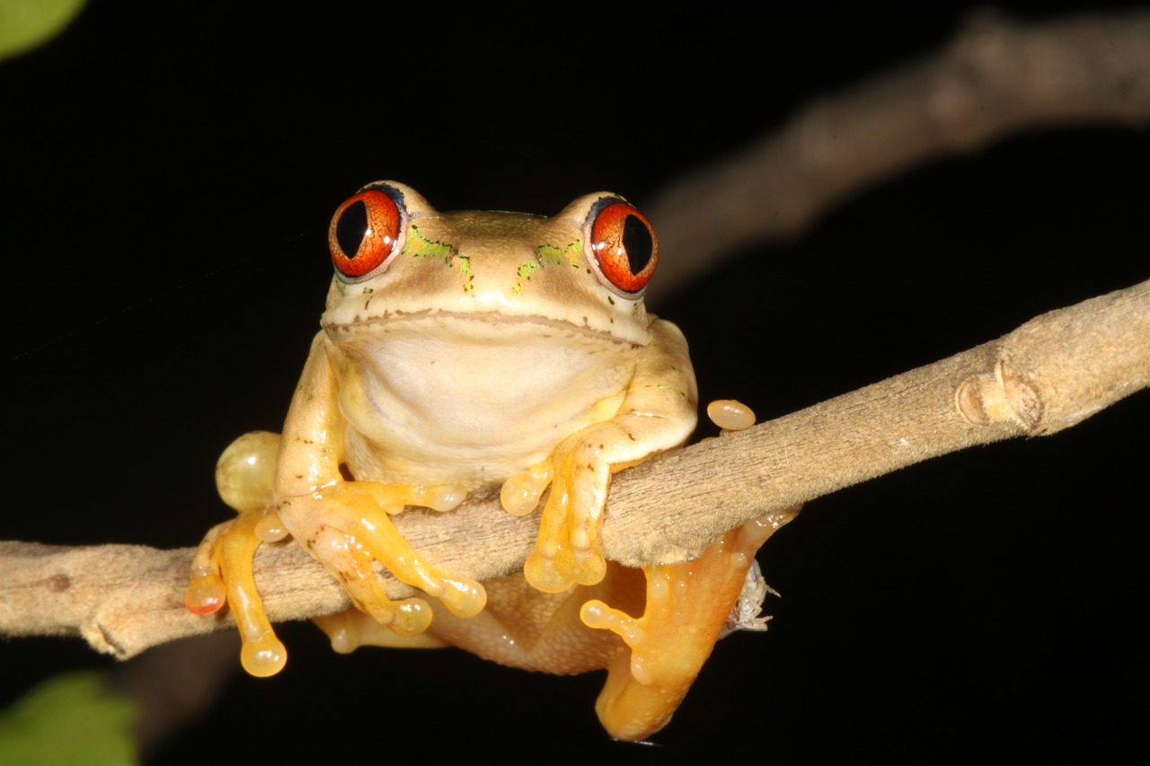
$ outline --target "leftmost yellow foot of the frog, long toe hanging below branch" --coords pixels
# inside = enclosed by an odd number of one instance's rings
[[[252,556],[262,542],[259,528],[275,527],[262,512],[241,513],[214,527],[192,561],[192,579],[184,603],[190,612],[212,614],[227,602],[243,641],[239,660],[254,676],[275,675],[288,661],[263,611],[252,576]]]

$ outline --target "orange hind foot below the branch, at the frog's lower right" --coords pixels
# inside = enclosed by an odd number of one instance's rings
[[[583,605],[580,616],[588,627],[611,630],[631,649],[608,668],[595,706],[612,736],[643,740],[670,720],[744,592],[754,552],[779,526],[752,521],[693,561],[645,568],[641,618],[600,600]]]

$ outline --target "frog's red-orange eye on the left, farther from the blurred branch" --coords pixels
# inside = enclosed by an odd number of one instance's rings
[[[382,189],[366,189],[340,205],[328,229],[336,270],[355,278],[377,269],[396,250],[400,219],[396,199]]]

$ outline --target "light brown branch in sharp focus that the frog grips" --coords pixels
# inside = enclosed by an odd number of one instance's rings
[[[620,474],[603,550],[629,565],[681,559],[752,518],[975,444],[1057,432],[1148,385],[1144,282]],[[431,561],[483,580],[522,566],[537,521],[504,513],[491,497],[448,514],[408,512],[397,526]],[[82,634],[95,649],[126,658],[230,625],[184,610],[191,556],[192,549],[0,543],[0,633]],[[261,546],[255,568],[274,620],[348,606],[297,545]],[[389,591],[409,589],[390,581]]]

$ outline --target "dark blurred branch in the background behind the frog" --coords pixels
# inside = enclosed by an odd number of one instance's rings
[[[749,244],[798,233],[850,194],[1037,127],[1150,124],[1150,13],[1032,25],[975,13],[940,53],[810,104],[780,131],[647,200],[652,297]],[[690,258],[685,255],[690,254]]]

